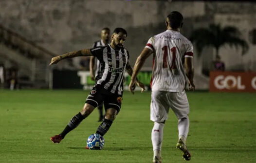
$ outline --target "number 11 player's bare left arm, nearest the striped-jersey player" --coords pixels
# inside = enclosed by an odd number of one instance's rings
[[[144,65],[146,59],[152,54],[152,50],[144,48],[140,54],[140,56],[137,58],[136,63],[134,65],[132,75],[131,75],[131,81],[129,84],[129,90],[132,94],[134,94],[134,89],[136,87],[136,79],[137,75]]]

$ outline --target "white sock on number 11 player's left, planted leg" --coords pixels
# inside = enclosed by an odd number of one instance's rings
[[[153,151],[161,151],[163,135],[164,135],[164,123],[155,122],[151,133],[151,140],[153,145]],[[154,152],[155,154],[155,152]]]

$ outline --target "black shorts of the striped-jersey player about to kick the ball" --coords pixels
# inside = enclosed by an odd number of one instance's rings
[[[96,84],[91,89],[90,95],[87,97],[85,103],[88,103],[96,108],[98,105],[104,102],[105,110],[113,108],[119,112],[121,109],[122,100],[122,95],[112,94],[106,89],[102,88],[100,84]]]

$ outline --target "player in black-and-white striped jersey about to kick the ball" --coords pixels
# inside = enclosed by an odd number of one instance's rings
[[[101,79],[99,79],[92,88],[82,111],[73,116],[60,134],[50,138],[53,143],[60,143],[66,134],[76,128],[102,101],[104,101],[106,114],[103,122],[96,130],[96,133],[104,136],[110,129],[112,122],[121,109],[125,70],[130,76],[132,75],[129,53],[128,50],[124,48],[126,38],[126,30],[116,28],[111,35],[111,43],[107,46],[72,51],[52,58],[50,65],[56,64],[66,58],[93,55],[100,61],[104,69]],[[136,83],[142,88],[142,91],[145,89],[144,84],[137,79]]]

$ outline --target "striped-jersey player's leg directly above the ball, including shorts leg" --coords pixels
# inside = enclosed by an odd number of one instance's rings
[[[119,95],[108,95],[104,97],[104,107],[106,110],[105,118],[98,127],[96,133],[104,136],[110,129],[116,115],[120,111],[122,103],[122,96]]]

